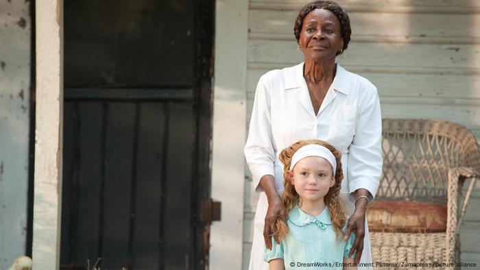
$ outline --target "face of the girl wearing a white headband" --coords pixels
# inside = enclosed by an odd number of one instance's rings
[[[302,158],[287,175],[303,201],[323,201],[328,190],[335,184],[332,165],[317,156]]]

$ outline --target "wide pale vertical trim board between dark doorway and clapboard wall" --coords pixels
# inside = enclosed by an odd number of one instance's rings
[[[212,270],[242,266],[247,51],[248,1],[216,1],[211,166],[221,221],[211,225]]]

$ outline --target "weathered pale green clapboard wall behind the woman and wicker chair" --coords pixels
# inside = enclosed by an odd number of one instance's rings
[[[308,1],[250,0],[248,116],[259,77],[302,62],[293,22]],[[337,60],[379,89],[383,117],[427,118],[466,125],[480,138],[480,2],[465,0],[338,1],[352,41]],[[248,129],[248,125],[246,127]],[[258,195],[245,167],[243,269],[248,269]],[[461,228],[462,262],[480,262],[480,185]]]

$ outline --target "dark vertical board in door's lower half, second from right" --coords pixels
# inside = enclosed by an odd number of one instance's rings
[[[165,103],[142,103],[140,108],[139,148],[133,254],[134,268],[158,269],[160,258],[160,194],[165,136]]]

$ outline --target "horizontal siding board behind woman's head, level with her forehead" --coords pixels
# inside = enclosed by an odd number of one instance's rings
[[[250,10],[249,29],[252,33],[283,34],[295,40],[293,25],[298,11]],[[356,37],[400,36],[421,37],[480,37],[480,14],[407,14],[349,12],[352,41]]]

